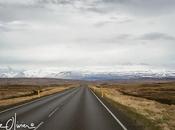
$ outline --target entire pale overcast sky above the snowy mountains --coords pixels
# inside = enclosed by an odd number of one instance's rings
[[[175,70],[174,0],[0,0],[0,67]]]

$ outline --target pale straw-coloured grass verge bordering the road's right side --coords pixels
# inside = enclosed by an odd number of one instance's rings
[[[143,130],[175,130],[174,105],[161,104],[143,97],[124,95],[114,88],[100,88],[99,86],[91,86],[91,88],[99,96],[103,91],[103,99]]]

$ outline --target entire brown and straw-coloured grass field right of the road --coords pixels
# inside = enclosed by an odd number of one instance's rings
[[[175,82],[91,86],[148,130],[175,130]],[[127,110],[127,111],[125,111]]]

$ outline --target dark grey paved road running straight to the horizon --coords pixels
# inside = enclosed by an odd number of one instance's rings
[[[0,113],[0,124],[16,123],[37,130],[126,130],[87,87],[78,87]],[[9,121],[10,122],[10,121]],[[34,123],[34,127],[31,128]],[[10,127],[11,122],[8,124]],[[0,125],[0,130],[3,128]],[[19,130],[27,130],[21,127]],[[16,130],[18,130],[16,129]],[[14,128],[11,130],[15,130]],[[128,129],[130,130],[130,129]]]

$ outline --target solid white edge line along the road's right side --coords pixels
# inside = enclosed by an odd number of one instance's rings
[[[123,130],[127,130],[127,128],[121,123],[121,121],[109,110],[109,108],[97,97],[97,95],[91,90],[93,95],[98,99],[98,101],[104,106],[104,108],[111,114],[111,116],[119,123],[119,125],[123,128]]]

